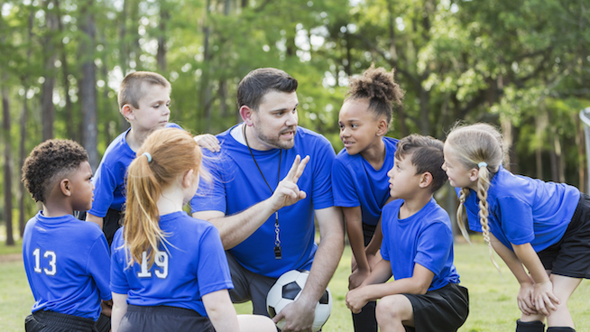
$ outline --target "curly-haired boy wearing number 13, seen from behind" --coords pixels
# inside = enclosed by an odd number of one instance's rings
[[[72,215],[92,205],[91,178],[88,153],[69,140],[41,143],[24,161],[24,186],[42,205],[23,235],[24,270],[35,299],[26,331],[92,331],[101,300],[111,300],[105,236]]]

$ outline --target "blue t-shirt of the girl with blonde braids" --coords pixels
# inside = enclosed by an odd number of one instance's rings
[[[579,199],[576,187],[514,175],[500,166],[487,191],[490,232],[511,250],[512,244],[530,243],[540,252],[566,233]],[[469,228],[481,232],[474,190],[469,191],[465,207]]]

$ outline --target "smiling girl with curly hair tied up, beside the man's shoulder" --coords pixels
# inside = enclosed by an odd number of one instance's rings
[[[345,148],[332,164],[334,205],[342,207],[346,231],[353,250],[348,289],[354,290],[379,261],[382,234],[381,209],[392,199],[387,171],[394,162],[398,140],[386,137],[392,122],[392,103],[401,106],[403,90],[393,80],[393,71],[366,69],[353,78],[338,124]],[[375,302],[353,314],[355,331],[377,331]]]

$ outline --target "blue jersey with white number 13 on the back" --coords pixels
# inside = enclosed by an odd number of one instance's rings
[[[100,300],[111,300],[108,244],[95,223],[39,211],[24,227],[23,262],[35,304],[97,320]]]

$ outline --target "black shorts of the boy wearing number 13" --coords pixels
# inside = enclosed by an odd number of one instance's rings
[[[95,321],[53,311],[35,311],[24,319],[26,332],[95,332]]]

